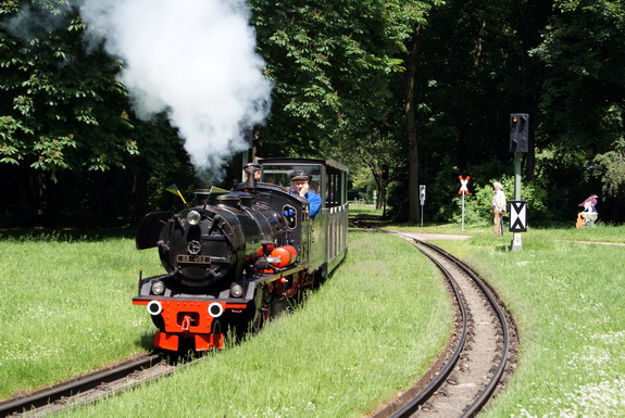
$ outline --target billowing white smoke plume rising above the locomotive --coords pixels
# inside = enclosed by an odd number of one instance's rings
[[[83,0],[92,40],[123,60],[141,118],[165,111],[198,172],[248,148],[270,111],[271,83],[245,0]]]

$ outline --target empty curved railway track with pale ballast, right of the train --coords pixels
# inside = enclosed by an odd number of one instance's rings
[[[457,331],[433,368],[374,418],[472,417],[502,389],[516,363],[517,335],[501,302],[475,271],[442,249],[412,238],[449,282]]]

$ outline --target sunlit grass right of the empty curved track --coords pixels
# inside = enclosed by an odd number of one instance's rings
[[[496,238],[437,242],[495,286],[518,325],[516,372],[485,417],[625,416],[625,246],[568,241],[618,229],[530,231],[518,252]]]

